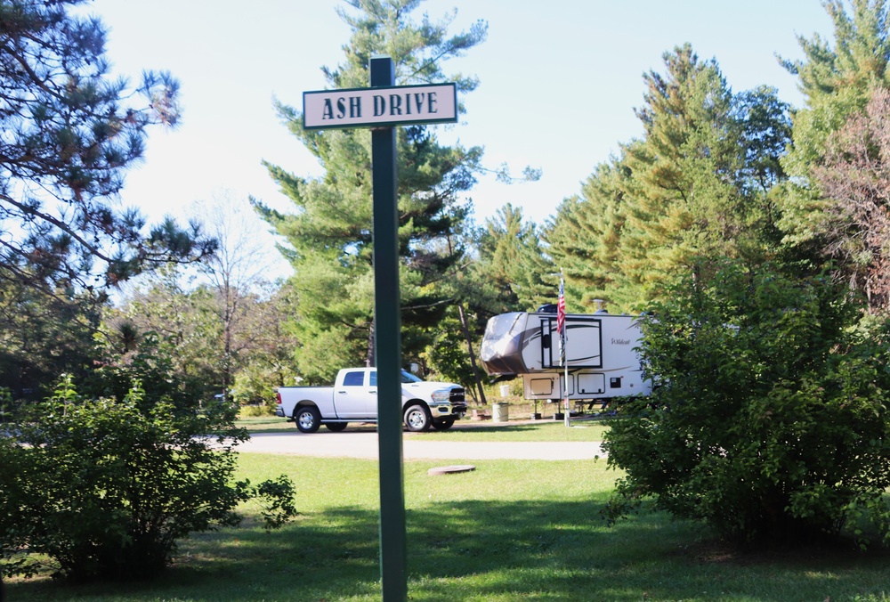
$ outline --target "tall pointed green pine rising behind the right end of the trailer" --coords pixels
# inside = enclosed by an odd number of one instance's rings
[[[746,235],[732,94],[716,63],[699,61],[689,45],[664,59],[665,76],[644,77],[637,116],[645,138],[627,155],[633,176],[624,267],[643,299],[665,274],[699,269],[700,256],[738,256]]]

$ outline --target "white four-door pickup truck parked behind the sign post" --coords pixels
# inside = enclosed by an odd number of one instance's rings
[[[409,431],[445,430],[466,413],[464,387],[426,382],[401,371],[401,411]],[[302,433],[324,425],[342,431],[350,422],[377,421],[377,370],[344,368],[334,386],[281,386],[276,416],[293,420]]]

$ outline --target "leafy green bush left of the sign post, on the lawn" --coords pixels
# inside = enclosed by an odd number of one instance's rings
[[[0,552],[8,574],[34,574],[35,554],[75,581],[157,574],[176,540],[236,525],[239,502],[267,500],[268,526],[295,514],[287,478],[233,483],[234,411],[81,399],[70,378],[0,439]],[[208,433],[216,435],[206,436]]]

